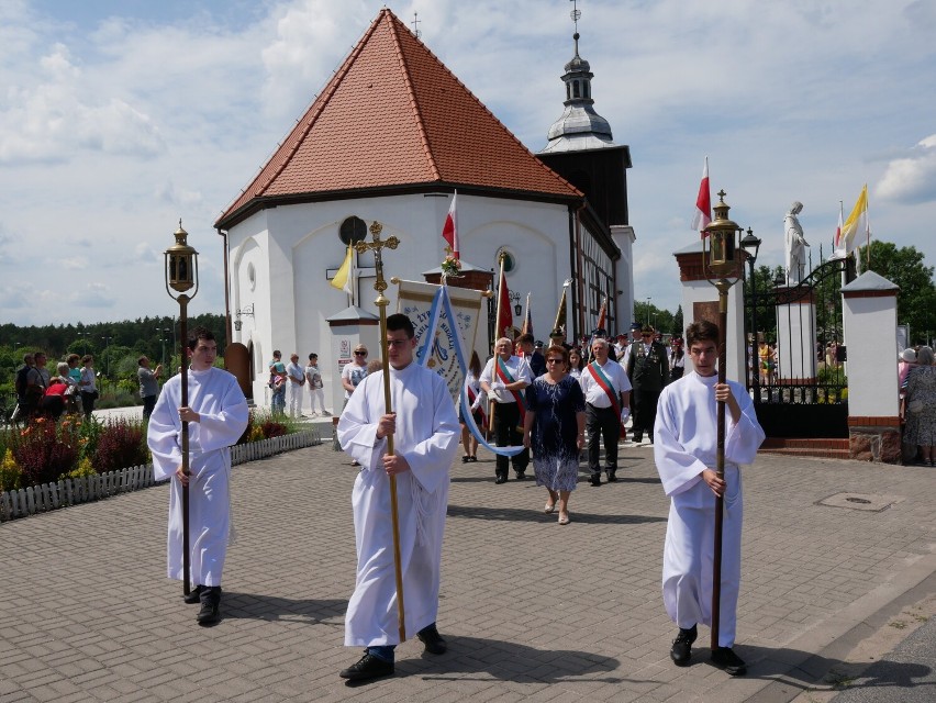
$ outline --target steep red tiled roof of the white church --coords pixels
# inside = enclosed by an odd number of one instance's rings
[[[382,9],[215,226],[235,224],[265,201],[419,185],[582,197]]]

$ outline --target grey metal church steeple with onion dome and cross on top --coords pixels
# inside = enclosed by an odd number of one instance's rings
[[[566,83],[566,107],[553,126],[549,127],[546,148],[541,154],[550,152],[577,152],[582,149],[603,148],[616,146],[612,142],[611,125],[608,120],[594,111],[594,100],[591,92],[591,72],[589,63],[579,56],[578,20],[581,16],[579,10],[572,10],[572,20],[576,22],[575,56],[566,64],[566,72],[562,82]]]

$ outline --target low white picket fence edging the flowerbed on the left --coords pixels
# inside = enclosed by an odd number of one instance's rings
[[[322,444],[322,435],[317,429],[304,429],[291,435],[231,447],[231,464],[236,466],[320,444]],[[153,465],[147,464],[98,476],[65,479],[55,483],[21,488],[16,491],[3,491],[0,493],[0,523],[14,517],[25,517],[67,505],[137,491],[155,483]]]

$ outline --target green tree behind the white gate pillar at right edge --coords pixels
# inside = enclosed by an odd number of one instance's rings
[[[860,248],[861,266],[867,266],[869,247]],[[898,322],[910,325],[911,341],[925,343],[932,337],[936,317],[936,287],[933,267],[924,264],[924,255],[915,246],[899,247],[874,239],[870,244],[870,270],[900,286]]]

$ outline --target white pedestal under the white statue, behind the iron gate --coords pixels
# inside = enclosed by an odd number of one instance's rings
[[[780,287],[778,293],[793,288]],[[795,294],[795,293],[791,293]],[[799,300],[777,305],[777,383],[816,382],[816,305],[811,290]]]

